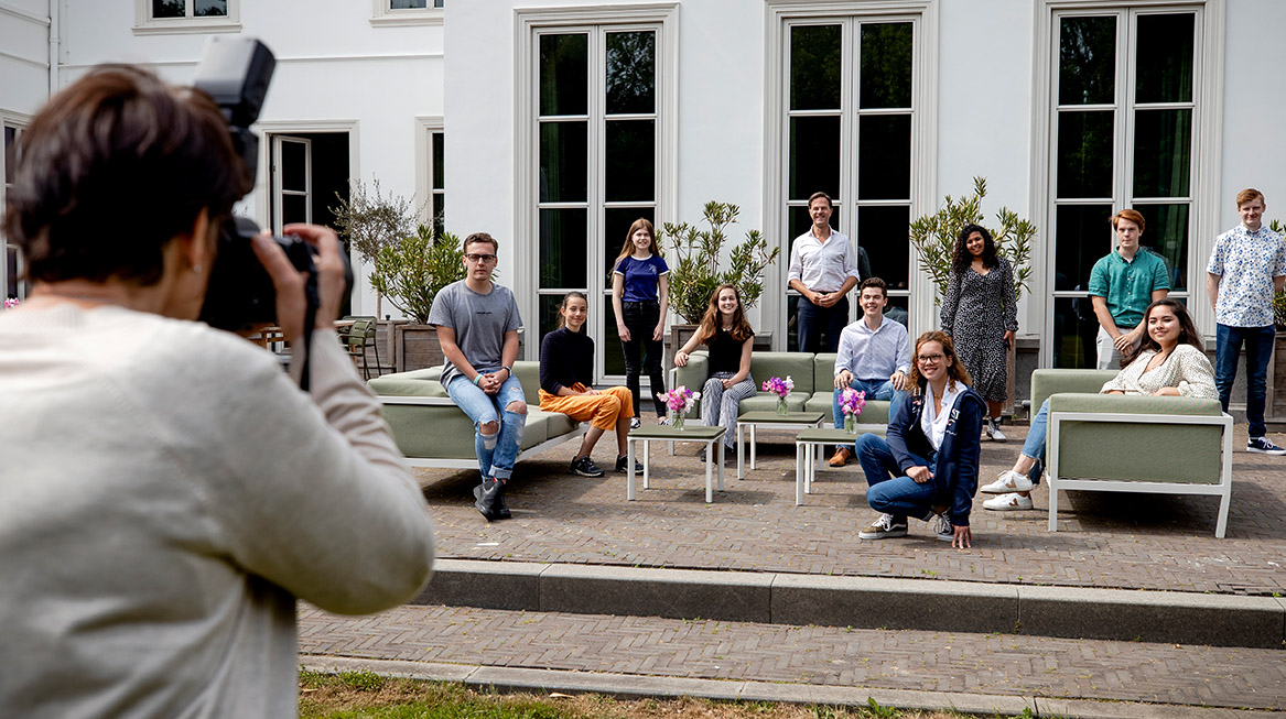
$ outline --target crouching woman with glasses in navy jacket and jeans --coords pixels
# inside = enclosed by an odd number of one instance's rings
[[[890,420],[887,439],[864,434],[854,447],[867,501],[881,512],[858,537],[905,537],[908,516],[936,516],[937,538],[967,548],[986,403],[968,386],[968,370],[944,333],[916,340],[908,381],[918,392]]]

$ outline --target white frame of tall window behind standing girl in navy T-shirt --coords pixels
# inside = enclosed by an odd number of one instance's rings
[[[655,122],[656,122],[656,150],[655,150],[655,177],[656,177],[656,194],[651,204],[653,204],[653,218],[655,225],[660,226],[664,222],[671,221],[671,213],[674,208],[678,207],[678,182],[675,181],[675,169],[678,168],[678,3],[657,3],[653,5],[638,6],[619,6],[619,8],[538,8],[538,9],[518,9],[517,14],[517,48],[514,54],[514,77],[518,78],[516,82],[516,101],[514,101],[514,127],[518,128],[516,134],[516,153],[517,162],[514,162],[514,189],[516,189],[516,207],[521,208],[514,213],[514,235],[516,238],[532,238],[530,241],[514,243],[514,267],[527,268],[516,272],[513,281],[514,294],[518,298],[518,307],[522,316],[526,317],[526,325],[530,327],[532,334],[539,334],[540,327],[540,279],[539,279],[539,256],[540,256],[540,194],[539,184],[536,182],[536,173],[540,166],[539,158],[539,132],[540,132],[540,98],[539,98],[539,76],[540,67],[535,60],[536,51],[539,49],[540,36],[550,33],[577,33],[588,32],[592,39],[598,37],[599,33],[608,32],[628,32],[628,31],[655,31],[657,35],[656,42],[656,107],[653,109]],[[595,49],[590,49],[592,60],[595,58]],[[602,59],[602,58],[599,58]],[[593,67],[593,65],[592,65]],[[592,71],[593,72],[593,71]],[[589,122],[594,123],[606,122],[610,116],[603,112],[602,108],[595,108],[595,103],[602,101],[602,87],[601,81],[595,83],[593,76],[590,78],[590,112]],[[611,116],[620,119],[617,116]],[[592,128],[590,137],[593,139],[595,132]],[[594,182],[595,172],[603,168],[606,149],[603,146],[603,137],[598,136],[597,140],[592,140],[588,148],[588,167],[590,168],[589,180]],[[597,168],[597,169],[595,169]],[[593,275],[594,268],[599,266],[593,253],[601,252],[597,244],[593,243],[593,238],[602,238],[601,230],[601,212],[603,208],[611,208],[613,205],[628,205],[639,207],[649,204],[648,202],[620,202],[620,203],[602,203],[594,204],[594,189],[590,189],[590,196],[588,198],[589,212],[589,226],[586,227],[586,250],[592,253],[590,262],[590,275]],[[601,198],[599,198],[601,199]],[[550,203],[544,203],[550,204]],[[559,203],[554,203],[559,204]],[[574,204],[586,204],[586,203],[574,203]],[[590,290],[598,289],[595,286],[597,281],[593,276],[588,276],[588,286]],[[610,285],[607,285],[607,291],[610,293]],[[553,291],[552,289],[545,289],[545,294]],[[592,299],[593,303],[602,302],[603,297],[611,297],[610,294],[590,293],[595,294]],[[593,304],[594,308],[601,307],[599,304]],[[602,311],[595,312],[601,315]],[[592,338],[603,347],[603,335],[606,322],[610,317],[599,317],[597,322],[593,324]],[[531,335],[529,335],[531,336]],[[536,358],[540,351],[540,338],[529,340],[525,343],[523,353],[526,358]],[[597,352],[594,357],[595,377],[599,380],[610,379],[603,374],[604,352]],[[612,375],[615,376],[615,375]]]

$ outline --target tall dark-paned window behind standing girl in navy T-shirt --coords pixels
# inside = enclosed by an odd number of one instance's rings
[[[656,221],[657,36],[656,26],[541,30],[532,48],[539,317],[529,326],[552,330],[568,290],[598,298],[588,331],[599,376],[625,372],[612,264],[630,225]]]

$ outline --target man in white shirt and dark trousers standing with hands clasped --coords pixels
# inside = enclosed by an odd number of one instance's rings
[[[858,253],[849,238],[831,229],[831,196],[808,199],[813,227],[791,247],[790,286],[800,293],[796,312],[800,352],[835,352],[849,324],[849,291],[856,286]],[[826,334],[826,343],[822,335]]]

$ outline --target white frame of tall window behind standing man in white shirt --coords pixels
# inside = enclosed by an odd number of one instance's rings
[[[779,238],[778,247],[782,258],[769,272],[763,303],[760,324],[773,327],[773,349],[787,349],[788,295],[795,294],[787,286],[790,272],[790,51],[791,28],[809,24],[853,24],[867,22],[910,22],[914,44],[912,48],[912,101],[910,101],[910,198],[909,220],[934,212],[937,172],[937,1],[856,1],[844,3],[799,3],[792,0],[769,0],[768,5],[768,51],[764,103],[764,230]],[[854,42],[850,33],[842,40],[842,56],[846,63],[842,69],[842,101],[856,96],[853,86]],[[904,109],[862,109],[841,107],[841,137],[855,137],[859,117],[880,114],[905,114]],[[804,113],[806,114],[806,113]],[[837,152],[840,149],[837,148]],[[856,241],[853,208],[900,205],[894,200],[859,200],[856,198],[855,162],[856,148],[841,155],[840,191],[844,198],[840,209],[840,226],[836,229]],[[912,329],[936,326],[935,290],[927,281],[916,281],[922,276],[919,258],[912,252],[909,241],[908,289],[896,295],[908,298],[908,325]],[[850,312],[856,303],[850,300]]]

